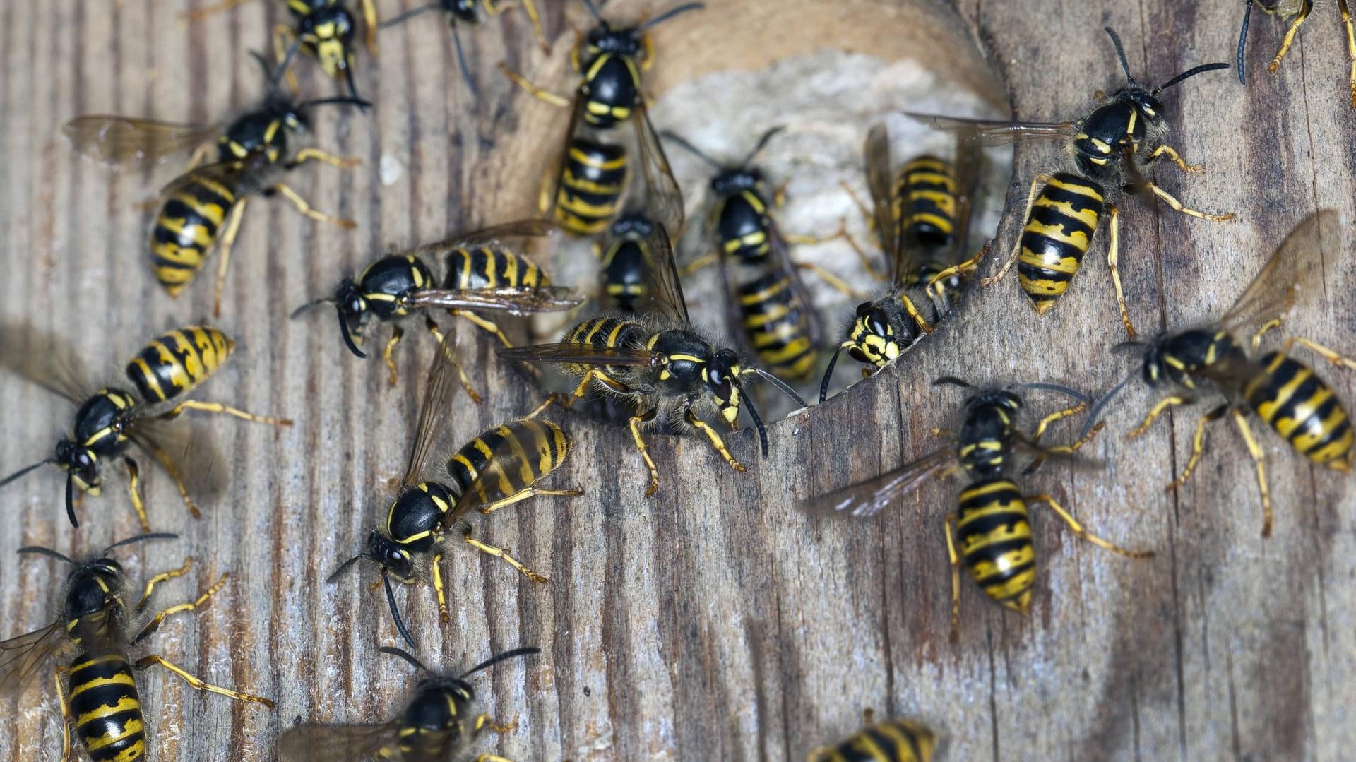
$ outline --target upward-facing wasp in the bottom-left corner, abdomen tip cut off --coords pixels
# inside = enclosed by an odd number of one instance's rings
[[[50,625],[0,643],[0,694],[15,693],[49,660],[57,660],[53,678],[61,704],[61,758],[71,759],[71,725],[94,762],[122,762],[146,757],[145,719],[137,691],[137,673],[160,666],[179,675],[197,690],[220,693],[236,701],[273,706],[262,696],[240,693],[203,682],[183,667],[160,655],[136,662],[129,652],[155,633],[171,616],[193,611],[207,602],[229,579],[222,574],[195,601],[161,609],[149,616],[151,594],[156,584],[188,574],[193,559],[183,567],[146,580],[134,606],[136,595],[122,564],[113,550],[148,540],[175,538],[175,534],[138,534],[114,542],[96,557],[75,561],[50,548],[19,548],[19,553],[42,555],[71,565],[62,594],[61,616]]]

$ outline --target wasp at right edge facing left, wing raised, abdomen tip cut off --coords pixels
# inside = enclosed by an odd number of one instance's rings
[[[1159,400],[1130,437],[1139,437],[1165,411],[1218,393],[1224,404],[1203,414],[1196,422],[1192,453],[1181,475],[1168,485],[1186,483],[1205,445],[1205,424],[1224,416],[1234,419],[1238,433],[1257,468],[1262,499],[1262,537],[1271,536],[1272,502],[1267,487],[1265,457],[1248,424],[1246,414],[1257,414],[1290,446],[1310,461],[1347,473],[1356,458],[1352,445],[1356,431],[1341,400],[1307,365],[1290,357],[1295,344],[1307,347],[1337,366],[1356,367],[1356,361],[1300,336],[1290,336],[1279,351],[1252,357],[1262,336],[1281,324],[1298,297],[1318,289],[1313,282],[1322,271],[1317,236],[1336,232],[1337,214],[1325,210],[1300,225],[1272,254],[1238,301],[1218,321],[1159,335],[1149,343],[1131,343],[1143,350],[1140,376],[1153,388],[1169,386],[1173,393]],[[1256,329],[1245,344],[1241,331]],[[1127,380],[1128,381],[1128,380]],[[1098,401],[1102,405],[1120,390],[1119,385]]]

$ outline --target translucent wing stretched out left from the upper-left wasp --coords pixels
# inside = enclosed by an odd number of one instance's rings
[[[61,127],[76,152],[104,164],[149,164],[210,140],[220,125],[184,125],[89,114]]]

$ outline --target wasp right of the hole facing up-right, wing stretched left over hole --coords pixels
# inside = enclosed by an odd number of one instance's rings
[[[1125,50],[1120,37],[1106,27],[1106,34],[1116,46],[1116,56],[1125,72],[1125,85],[1098,104],[1090,114],[1073,122],[991,122],[980,119],[956,119],[928,114],[909,114],[915,119],[942,129],[960,129],[974,140],[991,144],[1014,140],[1045,138],[1060,140],[1073,155],[1073,172],[1037,175],[1031,183],[1026,199],[1026,220],[1021,237],[1013,245],[1012,255],[997,275],[980,281],[991,285],[1003,278],[1017,263],[1017,275],[1022,290],[1031,298],[1037,313],[1044,315],[1069,289],[1070,281],[1078,273],[1083,255],[1092,247],[1093,235],[1101,224],[1102,214],[1111,217],[1111,244],[1106,264],[1111,268],[1116,289],[1116,304],[1125,332],[1134,339],[1135,325],[1125,309],[1125,297],[1120,286],[1117,270],[1119,210],[1108,203],[1108,193],[1130,191],[1136,195],[1153,194],[1176,212],[1223,222],[1234,214],[1207,214],[1188,209],[1168,191],[1158,187],[1140,174],[1139,165],[1153,165],[1158,160],[1170,159],[1185,172],[1197,172],[1199,165],[1186,164],[1177,151],[1163,142],[1168,121],[1159,95],[1176,87],[1182,80],[1204,72],[1227,69],[1229,64],[1204,64],[1188,69],[1159,87],[1146,89],[1130,73]],[[1044,183],[1044,184],[1041,184]],[[1104,183],[1111,183],[1111,188]]]

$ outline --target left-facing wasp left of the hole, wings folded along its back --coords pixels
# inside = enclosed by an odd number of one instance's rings
[[[583,297],[574,290],[552,286],[551,275],[541,266],[522,254],[521,247],[506,243],[511,239],[540,239],[553,229],[555,225],[541,220],[519,220],[391,254],[369,264],[357,278],[344,278],[335,296],[308,302],[292,316],[332,304],[339,313],[344,344],[361,358],[367,357],[358,344],[370,320],[399,321],[422,309],[447,309],[494,334],[504,346],[513,346],[499,325],[477,315],[477,310],[523,315],[571,309],[583,302]],[[442,287],[437,287],[427,264],[434,258],[446,259],[447,275]],[[439,335],[438,324],[427,316],[426,325],[435,338]],[[404,331],[393,325],[382,353],[392,386],[397,380],[392,351]],[[465,376],[462,385],[479,401],[480,396]]]

